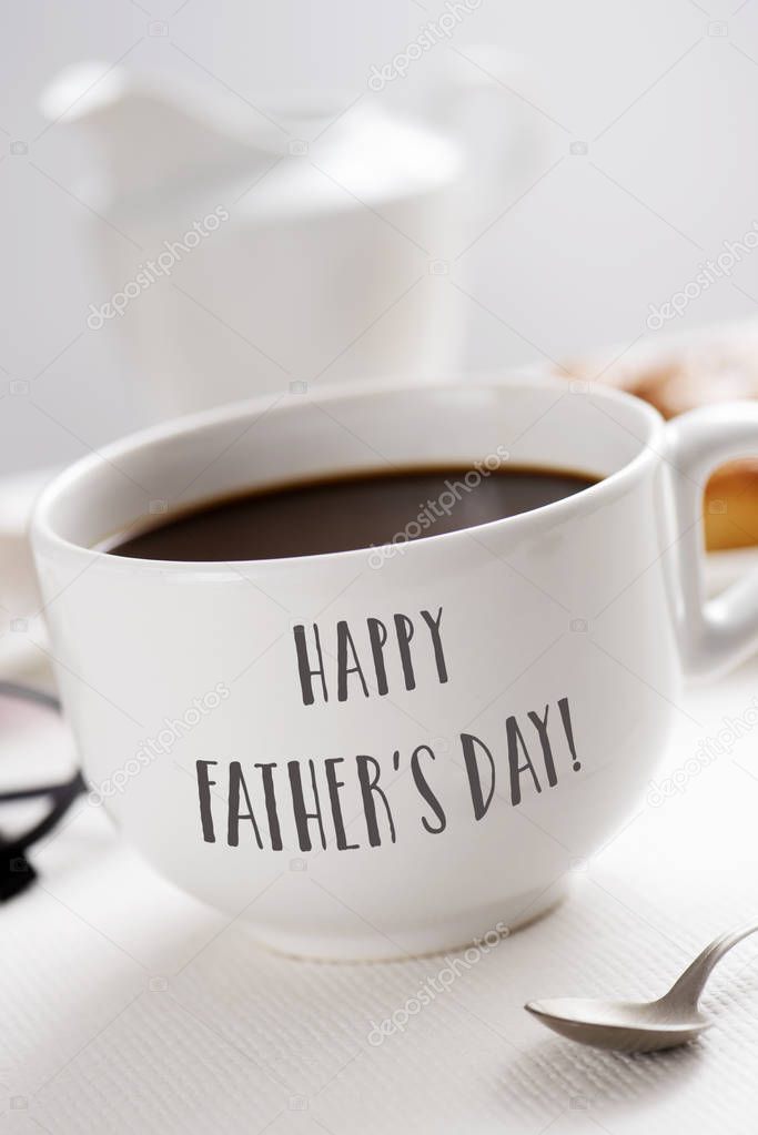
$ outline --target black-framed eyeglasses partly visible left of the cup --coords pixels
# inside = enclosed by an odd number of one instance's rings
[[[60,703],[51,693],[35,690],[16,682],[0,682],[0,698],[14,698],[42,706],[53,713],[60,713]],[[0,805],[18,804],[22,800],[34,800],[47,797],[50,810],[28,831],[22,835],[6,839],[0,831],[0,902],[20,894],[34,881],[36,872],[28,861],[26,852],[52,831],[65,816],[74,800],[86,790],[82,773],[77,772],[69,780],[59,784],[40,784],[33,788],[15,789],[11,792],[0,792]]]

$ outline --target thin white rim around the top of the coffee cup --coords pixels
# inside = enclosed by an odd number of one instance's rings
[[[517,372],[511,372],[506,375],[466,376],[465,378],[461,378],[458,376],[457,379],[444,379],[435,382],[413,382],[407,379],[393,382],[361,381],[360,384],[355,382],[349,385],[343,382],[332,384],[319,389],[317,392],[315,400],[319,403],[329,404],[335,402],[369,401],[373,397],[386,394],[423,394],[430,392],[433,393],[436,390],[471,390],[473,393],[477,390],[533,386],[551,387],[556,390],[563,390],[563,393],[570,394],[570,390],[567,389],[568,381],[568,378],[555,373],[519,375]],[[638,414],[640,420],[645,421],[648,436],[640,438],[628,427],[622,426],[622,423],[616,421],[616,419],[613,419],[617,426],[626,429],[626,431],[639,443],[639,451],[631,457],[631,460],[625,462],[620,469],[603,477],[596,484],[580,489],[572,496],[562,497],[558,501],[541,505],[538,508],[531,508],[528,512],[516,513],[513,516],[502,516],[496,520],[487,521],[482,524],[455,529],[450,532],[438,532],[436,535],[420,537],[415,540],[409,540],[402,546],[403,555],[418,554],[419,549],[424,547],[428,548],[440,540],[449,543],[455,539],[465,538],[465,533],[471,531],[487,532],[496,528],[502,528],[503,526],[507,526],[511,531],[515,531],[516,529],[527,531],[536,524],[541,524],[545,516],[548,514],[555,521],[561,521],[563,519],[567,519],[572,514],[578,514],[583,511],[584,507],[593,510],[599,503],[604,501],[608,502],[622,495],[626,490],[628,486],[637,479],[642,468],[650,460],[652,460],[652,457],[662,455],[659,447],[656,446],[656,443],[662,442],[665,421],[658,410],[633,394],[625,390],[618,390],[613,387],[597,385],[595,382],[589,382],[588,385],[591,387],[591,396],[593,398],[599,397],[603,402],[616,404],[625,409],[632,409]],[[589,395],[583,394],[583,396]],[[252,568],[259,571],[284,569],[292,570],[293,568],[301,568],[309,564],[323,565],[326,562],[332,560],[345,562],[347,557],[352,557],[354,560],[367,558],[377,552],[380,553],[382,548],[393,547],[393,544],[389,543],[338,552],[321,552],[302,556],[279,556],[260,560],[142,560],[135,556],[116,556],[107,550],[103,550],[102,548],[89,547],[85,544],[78,544],[75,540],[70,540],[60,535],[60,532],[56,530],[51,513],[57,503],[65,497],[68,491],[75,489],[81,479],[93,473],[96,469],[102,468],[103,464],[111,465],[112,463],[117,463],[118,460],[123,459],[125,454],[132,453],[144,445],[160,444],[180,436],[189,438],[193,435],[202,432],[204,429],[211,429],[220,423],[229,421],[230,419],[239,421],[246,417],[254,418],[267,409],[270,409],[271,413],[286,414],[298,412],[297,403],[272,406],[271,398],[273,397],[275,394],[271,392],[269,394],[258,395],[253,398],[225,403],[224,405],[216,406],[211,410],[201,410],[192,414],[172,418],[169,421],[160,422],[155,426],[149,426],[144,429],[127,434],[124,437],[109,443],[107,446],[103,446],[96,453],[91,453],[84,457],[79,457],[77,461],[73,462],[65,470],[62,470],[57,477],[54,477],[39,496],[33,510],[30,528],[33,546],[35,549],[44,548],[47,553],[75,555],[91,564],[99,561],[101,564],[106,565],[108,570],[127,571],[129,573],[133,573],[136,570],[141,574],[154,572],[161,577],[165,577],[167,573],[178,573],[182,575],[197,575],[200,573],[203,577],[212,575],[213,579],[217,580],[221,578],[233,580],[245,578],[241,575],[239,571],[235,571],[233,565],[237,565],[238,568]],[[202,507],[202,501],[197,502],[196,506]]]

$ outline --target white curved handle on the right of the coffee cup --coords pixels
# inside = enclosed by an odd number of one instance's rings
[[[675,596],[682,664],[688,676],[710,678],[736,665],[758,645],[758,571],[706,599],[702,498],[709,474],[738,457],[758,457],[758,403],[692,410],[666,427],[664,456],[673,482]]]

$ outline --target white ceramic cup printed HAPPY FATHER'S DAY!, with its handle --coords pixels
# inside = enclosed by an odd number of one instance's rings
[[[86,457],[43,494],[33,547],[92,801],[288,952],[419,953],[536,917],[634,807],[683,672],[756,641],[755,578],[710,603],[700,582],[706,476],[756,453],[755,405],[667,426],[509,379],[242,403]],[[435,536],[429,514],[500,461],[603,480]],[[388,464],[468,471],[394,546],[93,550],[166,510]]]

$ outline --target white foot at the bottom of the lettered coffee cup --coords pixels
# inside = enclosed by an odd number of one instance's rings
[[[566,898],[568,881],[525,892],[506,902],[468,911],[456,919],[420,930],[380,931],[365,935],[289,934],[256,926],[255,942],[289,958],[325,962],[407,961],[427,955],[461,952],[477,943],[495,945],[494,934],[508,938],[550,914]]]

